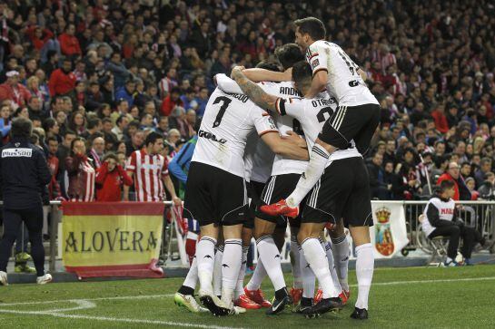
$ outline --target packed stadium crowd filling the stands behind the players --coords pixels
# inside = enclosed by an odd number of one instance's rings
[[[85,200],[114,196],[94,172],[116,170],[115,181],[132,185],[125,161],[152,131],[164,137],[156,151],[172,160],[197,131],[213,76],[272,61],[275,47],[294,40],[291,22],[312,15],[361,65],[381,102],[367,160],[372,197],[417,199],[431,194],[429,181],[450,179],[456,199],[493,198],[495,6],[328,3],[6,1],[2,140],[13,118],[28,118],[52,169],[48,198],[72,198],[77,170],[97,186]]]

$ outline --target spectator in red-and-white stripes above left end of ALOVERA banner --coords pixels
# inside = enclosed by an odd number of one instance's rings
[[[85,141],[76,137],[71,142],[70,157],[65,159],[65,169],[69,177],[67,195],[71,201],[94,201],[94,167],[86,156]]]

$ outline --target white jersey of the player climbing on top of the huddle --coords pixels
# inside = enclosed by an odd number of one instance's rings
[[[313,75],[322,70],[328,73],[327,92],[335,96],[339,106],[379,104],[362,81],[359,66],[339,45],[316,41],[306,50],[306,61]]]

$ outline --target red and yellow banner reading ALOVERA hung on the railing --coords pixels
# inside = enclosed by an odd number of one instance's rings
[[[163,277],[163,203],[64,202],[63,261],[80,277]]]

